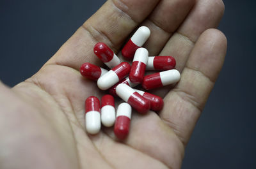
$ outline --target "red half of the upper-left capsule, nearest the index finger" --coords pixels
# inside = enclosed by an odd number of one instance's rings
[[[109,48],[108,45],[103,42],[97,43],[93,48],[93,52],[103,62],[111,61],[114,56],[114,52],[111,50],[111,48]]]

